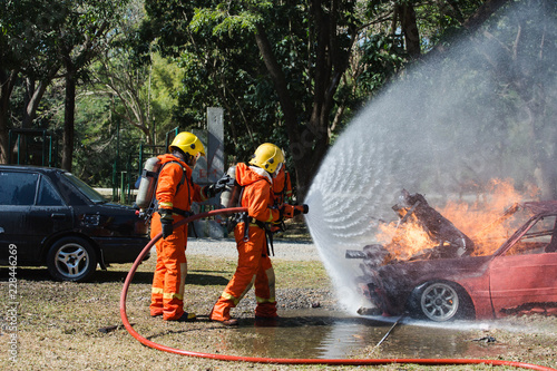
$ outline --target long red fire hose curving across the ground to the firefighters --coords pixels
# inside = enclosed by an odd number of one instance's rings
[[[196,214],[189,216],[185,219],[182,219],[174,224],[174,227],[184,225],[186,223],[194,222],[199,218],[219,215],[219,214],[234,214],[234,213],[243,213],[246,212],[245,207],[232,207],[232,208],[222,208],[209,211],[201,214]],[[195,351],[187,351],[182,349],[176,349],[163,344],[158,344],[153,342],[144,336],[141,336],[137,331],[134,330],[131,324],[128,321],[126,313],[126,297],[128,293],[129,285],[131,280],[134,279],[134,274],[137,271],[139,264],[141,264],[145,255],[150,248],[155,245],[155,243],[160,240],[162,233],[156,235],[139,253],[136,261],[134,262],[130,271],[126,276],[126,281],[124,282],[124,287],[120,294],[120,318],[124,323],[124,326],[128,331],[128,333],[138,340],[141,344],[157,349],[164,352],[180,354],[180,355],[189,355],[205,359],[213,359],[219,361],[240,361],[240,362],[252,362],[252,363],[274,363],[274,364],[330,364],[330,365],[379,365],[379,364],[391,364],[391,363],[412,363],[412,364],[422,364],[422,365],[457,365],[457,364],[489,364],[489,365],[509,365],[522,369],[530,370],[540,370],[540,371],[557,371],[556,369],[551,369],[548,367],[525,363],[525,362],[515,362],[515,361],[504,361],[504,360],[478,360],[478,359],[289,359],[289,358],[262,358],[262,357],[240,357],[240,355],[227,355],[227,354],[213,354],[213,353],[202,353]]]

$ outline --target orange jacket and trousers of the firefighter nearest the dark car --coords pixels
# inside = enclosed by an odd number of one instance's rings
[[[164,166],[158,176],[156,198],[159,208],[188,212],[192,201],[204,201],[202,187],[192,182],[192,169],[177,157],[166,154],[158,156]],[[185,180],[178,187],[185,172]],[[178,213],[179,213],[178,211]],[[186,216],[173,214],[174,223]],[[150,237],[162,231],[160,215],[155,213],[150,223]],[[174,228],[166,240],[156,244],[157,265],[153,277],[150,295],[150,315],[160,315],[166,321],[178,320],[184,314],[184,284],[187,274],[186,260],[187,224]]]

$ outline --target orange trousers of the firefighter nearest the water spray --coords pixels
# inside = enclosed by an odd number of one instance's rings
[[[231,319],[231,309],[236,306],[242,297],[255,285],[257,305],[255,315],[275,318],[275,274],[271,258],[267,255],[265,231],[250,225],[250,241],[244,242],[244,223],[236,225],[234,236],[238,250],[238,265],[232,280],[224,289],[221,297],[213,306],[211,319],[226,321]]]

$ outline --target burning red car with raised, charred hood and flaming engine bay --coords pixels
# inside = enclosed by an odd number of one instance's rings
[[[535,306],[557,311],[557,201],[515,204],[473,236],[420,194],[403,191],[401,201],[393,206],[399,222],[390,243],[346,251],[346,257],[363,260],[356,284],[372,309],[361,314],[442,322]],[[418,226],[429,244],[403,256],[400,247],[412,244],[404,240],[407,224]]]

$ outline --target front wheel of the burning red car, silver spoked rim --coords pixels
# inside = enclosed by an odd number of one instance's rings
[[[429,282],[414,290],[410,310],[419,319],[447,322],[470,316],[471,302],[465,290],[451,282]]]

